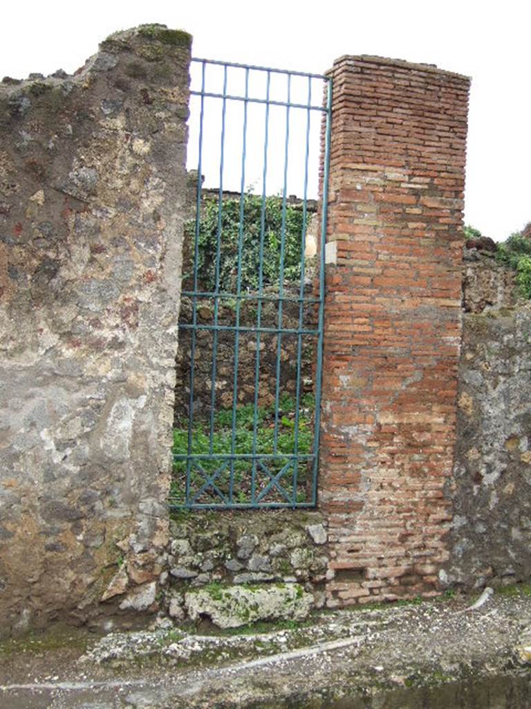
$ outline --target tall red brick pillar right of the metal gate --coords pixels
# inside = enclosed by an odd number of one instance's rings
[[[469,79],[365,56],[331,76],[320,499],[335,606],[435,595],[447,558]]]

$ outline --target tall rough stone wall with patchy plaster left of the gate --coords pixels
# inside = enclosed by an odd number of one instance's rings
[[[2,630],[154,605],[189,61],[189,35],[142,26],[0,86]]]

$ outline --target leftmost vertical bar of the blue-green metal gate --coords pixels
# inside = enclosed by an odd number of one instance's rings
[[[195,325],[197,325],[197,306],[198,296],[195,294],[198,291],[198,259],[199,259],[199,222],[201,213],[201,167],[202,167],[202,125],[205,108],[205,69],[206,62],[201,65],[201,109],[199,114],[199,149],[198,149],[198,188],[195,203],[195,235],[194,235],[194,257],[193,257],[193,299],[192,299],[192,336],[190,342],[190,403],[188,405],[188,459],[186,460],[186,480],[185,480],[185,504],[190,500],[190,474],[191,474],[191,459],[192,441],[193,441],[193,386],[194,386],[194,369],[195,369]]]

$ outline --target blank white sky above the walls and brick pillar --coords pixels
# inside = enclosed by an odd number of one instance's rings
[[[374,54],[471,76],[465,221],[503,240],[531,220],[527,2],[19,0],[2,8],[0,76],[73,72],[108,34],[146,22],[192,33],[196,57],[323,73]]]

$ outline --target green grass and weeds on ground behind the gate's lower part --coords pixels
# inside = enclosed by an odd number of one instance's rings
[[[193,462],[190,469],[192,494],[205,484],[205,473],[215,474],[215,485],[219,491],[228,496],[232,481],[233,502],[249,503],[253,479],[252,459],[236,459],[227,462],[224,469],[219,471],[222,464],[232,454],[256,453],[267,457],[262,460],[271,474],[278,474],[282,467],[289,463],[286,456],[295,453],[297,432],[297,452],[300,455],[311,454],[314,408],[314,397],[311,394],[304,395],[300,401],[298,425],[295,398],[286,394],[280,397],[277,415],[275,415],[275,406],[261,406],[256,411],[253,404],[237,406],[236,411],[233,411],[232,408],[222,408],[213,417],[212,430],[209,415],[196,415],[193,418],[190,453],[197,456],[212,454],[215,457],[199,458]],[[277,453],[273,455],[275,439]],[[174,456],[188,454],[188,419],[176,421],[173,430],[173,454]],[[185,501],[186,471],[186,460],[175,459],[170,493],[170,501],[173,504],[182,504]],[[293,491],[293,478],[294,465],[291,464],[278,481],[289,495],[292,495]],[[255,463],[254,480],[256,494],[263,490],[271,480],[267,471],[261,469],[258,463]],[[309,464],[306,459],[299,459],[297,464],[297,502],[307,500],[308,480]],[[263,501],[286,502],[286,498],[282,496],[276,486],[272,486]],[[221,498],[209,485],[197,502],[219,503]]]

